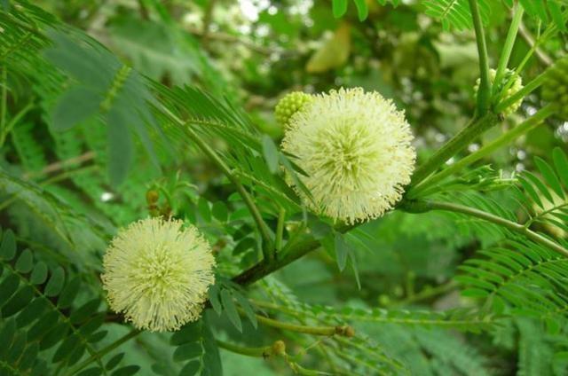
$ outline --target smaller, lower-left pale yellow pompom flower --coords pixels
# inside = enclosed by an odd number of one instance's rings
[[[148,218],[118,232],[103,258],[101,276],[110,308],[138,329],[179,329],[201,316],[215,258],[193,226]]]

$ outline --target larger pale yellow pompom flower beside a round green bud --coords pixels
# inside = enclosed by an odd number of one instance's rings
[[[312,210],[346,223],[376,218],[400,200],[414,170],[404,113],[377,92],[331,90],[294,114],[282,150],[307,176]],[[288,179],[291,182],[291,179]]]

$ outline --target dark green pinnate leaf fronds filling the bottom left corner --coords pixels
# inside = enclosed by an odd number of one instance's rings
[[[0,258],[0,366],[12,374],[72,372],[82,359],[97,356],[95,346],[108,333],[106,310],[99,310],[100,295],[85,294],[86,276],[18,250],[11,230],[2,234]],[[98,357],[96,364],[92,374],[109,374],[116,365]]]

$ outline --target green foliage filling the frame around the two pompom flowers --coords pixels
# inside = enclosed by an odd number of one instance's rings
[[[459,139],[479,51],[449,31],[473,28],[468,0],[65,3],[0,11],[0,373],[565,374],[565,124],[356,226],[307,213],[279,148],[278,98],[340,85],[406,109],[418,166]],[[536,89],[568,4],[477,4],[492,63]],[[512,7],[524,37],[498,61]],[[530,94],[490,137],[547,98]],[[217,260],[203,317],[172,334],[132,331],[99,280],[116,228],[147,215],[195,224]]]

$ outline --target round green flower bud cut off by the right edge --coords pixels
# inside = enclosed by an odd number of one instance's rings
[[[542,98],[556,106],[558,114],[568,119],[568,58],[548,68],[542,84]]]

